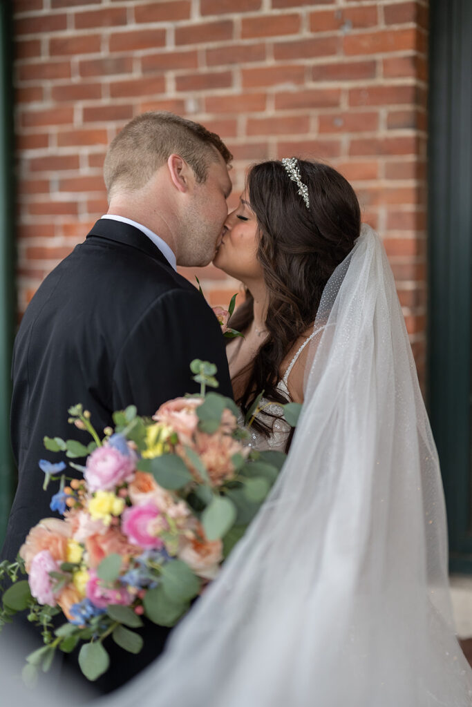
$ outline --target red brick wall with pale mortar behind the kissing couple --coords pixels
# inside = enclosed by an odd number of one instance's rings
[[[427,0],[13,0],[18,310],[107,208],[105,149],[171,110],[253,160],[326,160],[384,238],[425,363]],[[192,271],[186,271],[193,277]],[[213,304],[236,284],[200,274]]]

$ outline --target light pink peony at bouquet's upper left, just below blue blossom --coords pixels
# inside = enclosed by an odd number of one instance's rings
[[[131,481],[134,475],[134,455],[124,455],[110,445],[94,450],[87,459],[84,477],[89,491],[111,491]]]

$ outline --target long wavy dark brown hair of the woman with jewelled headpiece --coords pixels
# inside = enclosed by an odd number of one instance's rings
[[[269,293],[269,337],[251,366],[234,379],[236,402],[244,414],[262,390],[273,402],[287,402],[276,388],[282,362],[313,325],[328,279],[360,233],[359,202],[345,177],[320,162],[299,160],[298,165],[308,187],[309,208],[278,160],[253,165],[246,177],[246,194],[258,223],[258,260]],[[253,297],[246,289],[246,300],[230,326],[243,332],[253,318]],[[270,434],[257,419],[253,427]]]

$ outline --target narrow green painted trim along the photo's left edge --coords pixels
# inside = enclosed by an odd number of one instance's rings
[[[16,310],[11,37],[10,3],[0,2],[0,547],[16,476],[9,435],[11,349]]]

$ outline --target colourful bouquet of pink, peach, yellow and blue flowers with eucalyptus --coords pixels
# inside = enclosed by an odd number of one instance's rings
[[[69,422],[91,434],[77,440],[46,437],[49,452],[64,461],[40,461],[44,489],[59,482],[46,518],[30,530],[16,563],[0,563],[4,592],[1,625],[28,610],[44,645],[28,655],[26,682],[47,672],[57,649],[81,645],[79,666],[97,679],[108,670],[105,639],[139,653],[142,617],[173,626],[205,583],[214,579],[234,544],[258,512],[285,455],[245,445],[234,402],[217,387],[216,366],[192,361],[200,394],[166,402],[152,419],[134,406],[113,415],[115,428],[100,438],[80,404]],[[246,422],[255,414],[257,401]],[[297,406],[285,416],[294,421]],[[75,460],[85,458],[85,464]],[[21,574],[28,575],[21,580]],[[66,621],[57,626],[58,614]],[[54,621],[53,621],[54,619]]]

